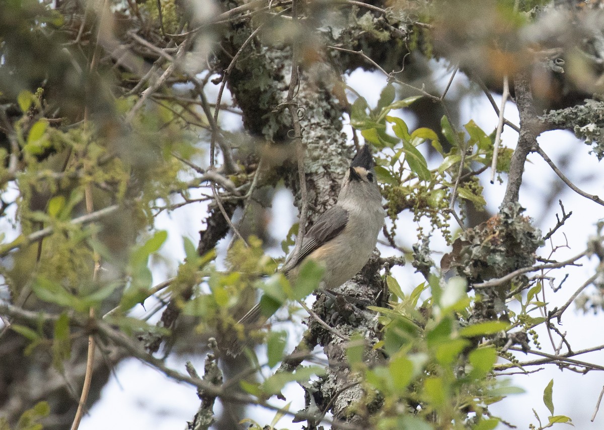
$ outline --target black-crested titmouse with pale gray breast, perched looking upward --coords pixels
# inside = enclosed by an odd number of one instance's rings
[[[336,205],[321,214],[306,233],[299,257],[292,252],[281,268],[290,281],[298,277],[307,258],[325,267],[321,285],[327,290],[339,287],[365,266],[386,215],[373,166],[373,156],[365,145],[344,176]],[[257,304],[239,323],[253,324],[259,319]]]

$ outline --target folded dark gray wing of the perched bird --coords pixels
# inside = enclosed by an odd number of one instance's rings
[[[324,243],[327,243],[338,236],[347,222],[348,211],[341,206],[335,205],[326,210],[304,235],[304,240],[300,249],[300,257],[296,259],[292,252],[283,265],[283,272],[287,274],[288,271],[295,268],[295,266],[304,260],[304,257],[309,255],[312,251],[315,251],[315,249],[319,248]]]

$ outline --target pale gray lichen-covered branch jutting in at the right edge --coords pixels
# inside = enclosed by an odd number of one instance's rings
[[[557,109],[539,117],[541,121],[573,130],[577,138],[592,146],[597,158],[604,158],[604,101],[586,99],[580,106]]]

